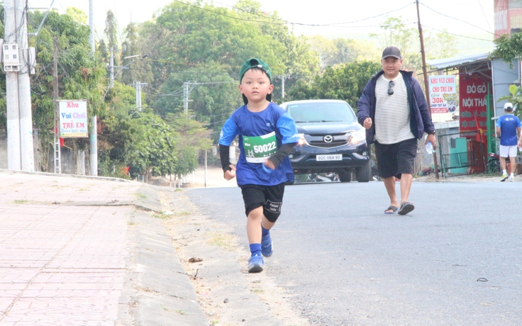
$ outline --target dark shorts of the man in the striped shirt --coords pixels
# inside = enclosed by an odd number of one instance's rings
[[[375,157],[377,157],[377,169],[381,178],[395,176],[397,179],[401,179],[403,173],[413,174],[416,156],[416,138],[390,145],[375,142]]]

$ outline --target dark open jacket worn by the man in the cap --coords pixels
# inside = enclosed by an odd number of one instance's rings
[[[435,126],[431,121],[430,111],[426,98],[418,81],[412,77],[413,72],[406,72],[400,70],[404,83],[406,84],[406,91],[408,93],[408,101],[410,104],[410,129],[411,133],[417,138],[421,139],[424,132],[429,133],[435,130]],[[374,142],[375,136],[375,84],[377,79],[384,74],[384,71],[378,72],[362,91],[362,95],[357,102],[357,120],[360,125],[364,125],[366,118],[372,118],[372,127],[366,130],[366,142],[371,144]]]

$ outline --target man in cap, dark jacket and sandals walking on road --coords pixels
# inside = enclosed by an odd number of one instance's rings
[[[413,208],[408,201],[413,181],[417,140],[428,133],[426,143],[435,148],[435,126],[421,85],[412,72],[401,70],[397,47],[382,52],[382,71],[365,86],[357,103],[357,120],[366,128],[366,142],[375,143],[379,176],[384,180],[390,205],[386,214],[406,215]],[[401,180],[401,201],[397,200],[395,178]]]

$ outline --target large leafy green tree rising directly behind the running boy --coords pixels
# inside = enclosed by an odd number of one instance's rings
[[[238,70],[249,57],[262,57],[270,65],[278,89],[282,76],[318,72],[308,45],[289,33],[276,13],[260,12],[256,1],[239,1],[234,10],[174,2],[138,30],[138,47],[148,49],[154,75],[149,105],[163,117],[179,113],[183,84],[202,83],[191,90],[189,108],[196,120],[209,123],[213,135],[242,105]],[[274,93],[274,101],[279,94]]]

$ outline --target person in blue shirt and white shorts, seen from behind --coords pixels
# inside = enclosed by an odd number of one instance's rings
[[[509,181],[513,181],[515,174],[513,171],[516,168],[516,145],[517,135],[520,134],[521,123],[517,116],[513,115],[513,104],[504,104],[504,116],[496,120],[496,136],[500,137],[500,167],[502,169],[502,176],[500,181],[506,181],[508,174],[506,172],[506,157],[509,157],[511,162],[511,175]]]

